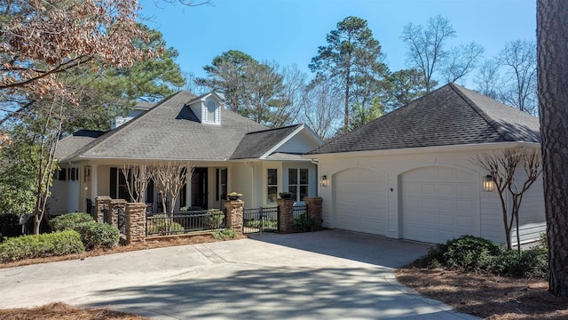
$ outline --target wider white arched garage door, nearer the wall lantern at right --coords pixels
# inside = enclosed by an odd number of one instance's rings
[[[402,236],[429,243],[461,235],[479,236],[477,178],[474,173],[444,167],[404,173]]]

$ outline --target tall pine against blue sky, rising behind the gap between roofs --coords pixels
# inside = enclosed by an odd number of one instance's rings
[[[368,108],[382,89],[388,73],[381,44],[373,37],[367,20],[347,17],[326,36],[327,45],[318,48],[309,68],[316,73],[314,83],[331,81],[343,92],[343,131],[350,128],[350,109],[354,103]]]

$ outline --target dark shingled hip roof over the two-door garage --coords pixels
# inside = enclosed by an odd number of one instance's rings
[[[308,154],[477,143],[540,142],[539,119],[457,84],[446,84]]]

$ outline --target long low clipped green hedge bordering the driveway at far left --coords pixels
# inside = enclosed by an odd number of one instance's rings
[[[8,238],[0,244],[0,262],[84,252],[75,230]]]

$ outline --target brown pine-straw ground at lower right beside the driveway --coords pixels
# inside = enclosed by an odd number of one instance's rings
[[[485,319],[568,319],[568,298],[548,293],[543,279],[414,267],[399,268],[397,279],[459,312]]]

